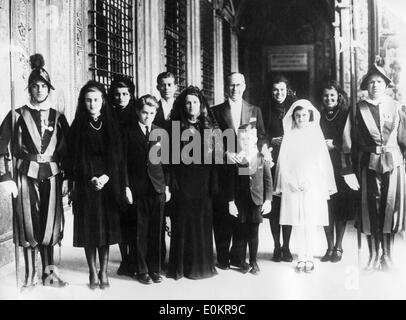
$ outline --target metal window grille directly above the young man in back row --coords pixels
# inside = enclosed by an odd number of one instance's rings
[[[186,0],[165,0],[166,69],[172,72],[179,90],[187,85],[187,7]]]

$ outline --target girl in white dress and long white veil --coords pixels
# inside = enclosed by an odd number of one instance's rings
[[[283,119],[284,138],[276,167],[275,194],[281,196],[281,225],[293,226],[298,240],[297,272],[312,272],[313,237],[327,226],[327,200],[337,192],[320,113],[308,100],[296,101]]]

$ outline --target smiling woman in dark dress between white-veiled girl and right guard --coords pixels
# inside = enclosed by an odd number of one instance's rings
[[[339,262],[342,258],[342,242],[347,220],[354,212],[354,192],[352,192],[341,176],[341,145],[342,135],[349,108],[346,93],[334,81],[327,81],[321,90],[322,109],[320,126],[326,139],[334,168],[334,176],[338,192],[328,201],[329,225],[324,227],[327,238],[327,252],[322,262]],[[334,230],[336,240],[334,243]]]

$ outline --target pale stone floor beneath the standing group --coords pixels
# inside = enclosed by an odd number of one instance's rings
[[[312,300],[312,299],[406,299],[406,241],[395,240],[396,268],[391,272],[368,273],[359,268],[366,263],[366,243],[363,241],[360,264],[356,231],[349,223],[344,238],[344,255],[340,263],[322,263],[325,251],[322,230],[317,235],[315,271],[297,274],[293,263],[272,262],[272,237],[268,221],[260,227],[259,266],[254,276],[235,270],[218,270],[218,275],[206,280],[178,281],[166,279],[161,284],[145,286],[130,278],[116,275],[120,262],[118,246],[111,248],[109,277],[111,287],[91,291],[83,249],[72,247],[72,216],[67,214],[65,239],[62,246],[60,273],[69,286],[55,289],[38,285],[34,289],[16,288],[14,264],[0,268],[0,299],[17,300]],[[292,253],[295,239],[292,237]],[[295,255],[295,254],[294,254]],[[21,274],[23,272],[21,271]]]

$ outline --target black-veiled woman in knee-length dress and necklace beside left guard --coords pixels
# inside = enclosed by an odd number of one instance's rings
[[[89,81],[80,91],[69,132],[69,178],[73,202],[73,245],[84,247],[90,288],[109,286],[109,246],[120,242],[121,139],[102,84]],[[100,271],[96,270],[96,251]],[[98,280],[100,283],[98,283]]]

